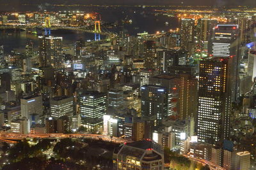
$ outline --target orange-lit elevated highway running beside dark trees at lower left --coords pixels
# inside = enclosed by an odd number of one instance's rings
[[[52,133],[52,134],[16,134],[16,133],[0,133],[0,141],[5,141],[6,143],[16,143],[15,140],[22,139],[33,139],[33,138],[49,138],[49,139],[57,139],[57,138],[88,138],[88,139],[102,139],[104,141],[113,141],[115,143],[124,143],[127,142],[125,139],[121,138],[110,138],[110,136],[105,136],[101,134],[62,134],[62,133]]]

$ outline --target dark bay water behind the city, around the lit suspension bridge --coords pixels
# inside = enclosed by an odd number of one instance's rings
[[[156,15],[156,12],[152,8],[115,8],[112,10],[109,10],[108,8],[86,8],[83,10],[100,13],[101,18],[104,21],[117,21],[119,26],[110,29],[109,31],[119,32],[127,30],[129,35],[136,35],[138,32],[143,31],[147,31],[150,34],[155,33],[156,31],[169,31],[170,29],[175,29],[179,25],[177,18],[168,17],[167,15]],[[132,20],[132,24],[124,24],[122,20]],[[52,34],[54,36],[62,36],[63,45],[74,43],[79,38],[84,40],[94,39],[94,34],[79,31],[58,30],[52,31]],[[34,42],[35,50],[38,48],[38,38],[36,35],[26,34],[25,31],[16,33],[0,31],[0,44],[5,46],[5,52],[7,53],[12,49],[18,50],[19,52],[24,51],[27,41]]]

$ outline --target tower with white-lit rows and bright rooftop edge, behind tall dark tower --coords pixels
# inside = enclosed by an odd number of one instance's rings
[[[237,25],[217,25],[214,29],[214,36],[209,43],[209,53],[213,57],[227,57],[233,58],[230,71],[231,79],[231,97],[232,101],[236,101],[239,97],[239,39],[238,39],[238,26]]]

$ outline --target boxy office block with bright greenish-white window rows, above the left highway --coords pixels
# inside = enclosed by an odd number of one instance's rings
[[[79,96],[81,124],[97,130],[107,113],[107,96],[99,92],[84,92]]]

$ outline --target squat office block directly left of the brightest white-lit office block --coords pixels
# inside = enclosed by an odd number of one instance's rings
[[[61,96],[50,99],[51,117],[60,118],[74,115],[73,97]]]

